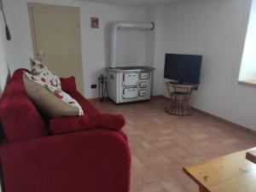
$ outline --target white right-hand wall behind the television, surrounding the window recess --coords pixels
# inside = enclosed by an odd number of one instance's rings
[[[250,5],[215,0],[170,6],[166,38],[169,53],[203,55],[192,106],[256,130],[256,89],[238,84]]]

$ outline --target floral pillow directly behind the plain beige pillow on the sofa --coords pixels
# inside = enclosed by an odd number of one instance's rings
[[[25,73],[26,77],[33,82],[40,84],[44,87],[45,90],[48,90],[49,92],[53,93],[57,98],[59,98],[62,102],[66,102],[69,106],[78,109],[79,115],[83,115],[84,111],[79,105],[79,102],[74,100],[71,96],[69,96],[66,92],[64,92],[61,89],[58,89],[55,86],[52,86],[51,84],[46,83],[44,80],[39,79],[37,76],[34,76],[29,73]],[[52,106],[52,108],[55,108],[55,106]]]

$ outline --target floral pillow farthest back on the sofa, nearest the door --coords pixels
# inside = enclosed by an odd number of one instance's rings
[[[44,66],[43,62],[30,58],[30,63],[31,73],[34,77],[61,90],[61,79],[55,75],[55,73],[49,71],[49,69]]]

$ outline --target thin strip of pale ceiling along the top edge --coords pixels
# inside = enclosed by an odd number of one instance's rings
[[[118,4],[118,5],[131,5],[131,6],[142,6],[142,5],[154,5],[162,3],[182,3],[187,1],[195,0],[80,0],[94,3],[107,3],[107,4]]]

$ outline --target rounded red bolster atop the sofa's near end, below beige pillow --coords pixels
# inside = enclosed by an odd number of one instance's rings
[[[52,134],[83,131],[102,128],[120,131],[125,125],[125,118],[121,114],[98,113],[84,114],[79,117],[60,117],[50,120],[49,129]]]

